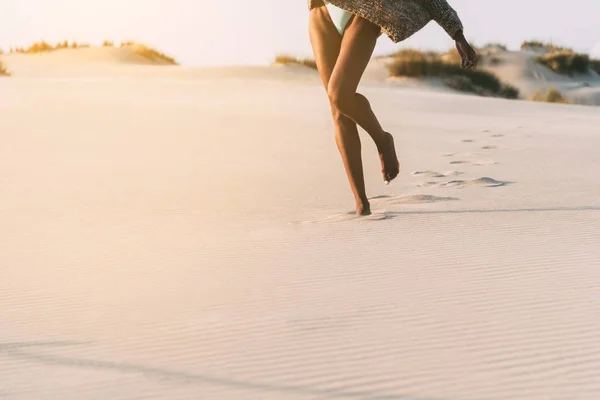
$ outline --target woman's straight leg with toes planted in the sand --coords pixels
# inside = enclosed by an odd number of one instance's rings
[[[327,89],[340,53],[342,36],[333,25],[325,6],[311,10],[309,32],[317,68]],[[335,125],[336,144],[356,200],[356,212],[360,215],[368,215],[371,210],[365,191],[361,145],[356,123],[342,114],[333,103],[331,103],[331,112]]]

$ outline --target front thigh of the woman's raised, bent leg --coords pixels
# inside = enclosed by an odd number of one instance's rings
[[[328,83],[330,93],[356,93],[380,34],[379,26],[361,17],[353,18],[344,32],[337,62],[331,73]]]

